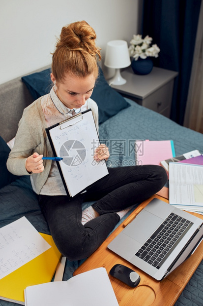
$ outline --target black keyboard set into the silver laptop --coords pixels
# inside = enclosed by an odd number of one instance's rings
[[[159,269],[192,225],[189,220],[171,213],[135,255]]]

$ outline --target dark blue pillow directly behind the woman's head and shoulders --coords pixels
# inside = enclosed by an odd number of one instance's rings
[[[22,81],[26,84],[34,100],[50,92],[52,81],[51,69],[46,69],[29,76],[23,76]],[[103,75],[99,67],[99,76],[91,98],[97,103],[99,109],[99,123],[116,115],[119,111],[127,108],[130,104],[113,89]]]

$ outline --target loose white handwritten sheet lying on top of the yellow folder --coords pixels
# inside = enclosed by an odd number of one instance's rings
[[[26,217],[4,226],[0,229],[0,279],[49,248]]]

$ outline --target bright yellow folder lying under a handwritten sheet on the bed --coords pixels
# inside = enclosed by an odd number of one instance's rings
[[[40,233],[51,245],[29,263],[0,279],[0,299],[25,305],[24,289],[50,282],[61,258],[52,236]]]

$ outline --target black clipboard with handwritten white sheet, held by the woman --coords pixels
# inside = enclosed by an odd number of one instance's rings
[[[108,175],[105,160],[97,162],[93,155],[100,145],[91,109],[46,128],[58,170],[67,194],[84,192]]]

